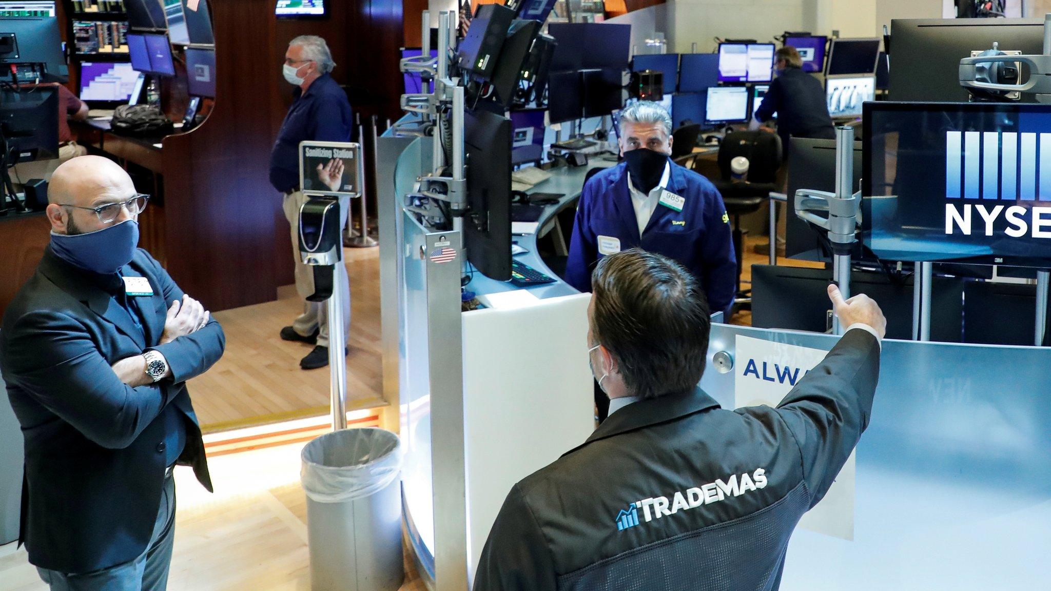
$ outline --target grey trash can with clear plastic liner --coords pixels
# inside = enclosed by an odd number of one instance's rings
[[[303,448],[312,591],[397,591],[401,444],[383,429],[343,429]]]

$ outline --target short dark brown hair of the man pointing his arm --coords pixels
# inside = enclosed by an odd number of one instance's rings
[[[707,298],[675,261],[632,248],[592,273],[592,334],[613,355],[632,395],[654,399],[701,381],[712,329]]]

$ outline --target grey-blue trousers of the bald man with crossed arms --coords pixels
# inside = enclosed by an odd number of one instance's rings
[[[38,568],[40,578],[51,591],[164,591],[168,587],[171,545],[176,538],[176,478],[168,476],[161,493],[161,506],[153,535],[138,558],[106,569],[69,574]]]

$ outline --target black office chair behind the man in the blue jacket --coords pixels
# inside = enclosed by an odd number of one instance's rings
[[[746,181],[734,180],[730,161],[738,156],[748,159]],[[771,191],[778,190],[778,169],[781,168],[781,138],[767,131],[731,131],[719,146],[719,176],[713,184],[722,193],[726,213],[734,219],[734,250],[737,252],[737,293],[734,312],[751,308],[751,290],[741,289],[744,268],[744,231],[741,216],[758,211]],[[770,229],[771,233],[775,231]]]

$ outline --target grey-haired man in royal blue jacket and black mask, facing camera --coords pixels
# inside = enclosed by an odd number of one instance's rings
[[[737,286],[729,218],[707,179],[672,162],[672,117],[640,101],[620,111],[624,162],[595,175],[577,205],[565,281],[591,290],[600,258],[639,246],[685,266],[701,282],[713,310],[727,314]],[[598,420],[610,399],[595,388]]]

